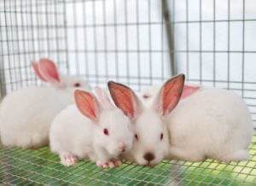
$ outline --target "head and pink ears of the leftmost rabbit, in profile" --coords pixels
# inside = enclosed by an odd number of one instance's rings
[[[42,58],[38,62],[32,61],[32,67],[40,78],[44,82],[52,84],[58,89],[90,89],[89,84],[84,79],[65,75],[58,72],[55,63],[47,58]]]

